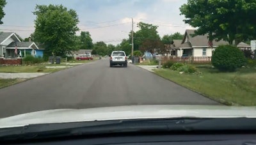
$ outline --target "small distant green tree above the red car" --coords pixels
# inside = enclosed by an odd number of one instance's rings
[[[86,31],[81,31],[80,34],[80,49],[92,49],[93,48],[93,43],[92,43],[92,38],[91,34]]]

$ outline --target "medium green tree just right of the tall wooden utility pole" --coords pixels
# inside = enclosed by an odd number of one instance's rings
[[[157,27],[152,24],[139,22],[137,27],[140,28],[136,31],[134,36],[134,50],[139,50],[142,43],[147,40],[160,40],[160,36],[157,32]],[[131,33],[129,34],[129,41],[131,43]]]

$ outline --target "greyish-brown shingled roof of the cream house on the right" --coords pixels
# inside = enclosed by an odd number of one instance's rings
[[[197,35],[197,36],[191,36],[192,34],[195,34],[195,29],[186,29],[185,36],[182,40],[182,43],[185,43],[186,38],[188,38],[188,42],[191,43],[191,47],[207,47],[208,42],[209,42],[209,34],[205,35]],[[219,42],[217,41],[212,41],[213,46],[218,46],[218,45],[227,45],[228,42],[225,42],[223,40],[220,40]]]

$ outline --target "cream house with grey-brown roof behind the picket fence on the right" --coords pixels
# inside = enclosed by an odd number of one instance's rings
[[[176,56],[212,56],[214,49],[219,45],[228,45],[228,42],[220,40],[220,41],[212,41],[212,47],[209,47],[209,38],[208,34],[205,35],[197,35],[195,34],[195,29],[187,29],[184,34],[184,38],[178,47],[173,48],[176,49]],[[250,49],[250,45],[246,43],[239,43],[237,45],[241,50]]]

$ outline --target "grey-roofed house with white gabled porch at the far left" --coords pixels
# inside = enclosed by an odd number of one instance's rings
[[[16,46],[17,54],[15,54]],[[39,49],[34,42],[20,42],[15,33],[0,32],[0,64],[20,65],[20,57],[28,54],[36,56],[37,50]]]

